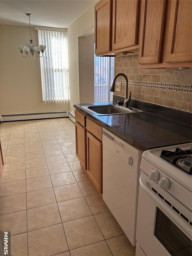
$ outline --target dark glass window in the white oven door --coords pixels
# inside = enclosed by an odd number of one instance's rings
[[[155,236],[173,256],[191,256],[191,240],[157,207]]]

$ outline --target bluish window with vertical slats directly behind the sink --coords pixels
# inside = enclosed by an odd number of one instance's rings
[[[114,57],[95,56],[95,102],[113,100]]]

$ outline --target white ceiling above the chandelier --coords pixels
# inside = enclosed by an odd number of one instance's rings
[[[98,0],[0,0],[0,24],[68,28]]]

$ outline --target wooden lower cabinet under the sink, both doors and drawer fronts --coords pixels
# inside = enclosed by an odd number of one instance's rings
[[[102,194],[102,127],[78,110],[75,110],[75,119],[76,157],[99,193]]]

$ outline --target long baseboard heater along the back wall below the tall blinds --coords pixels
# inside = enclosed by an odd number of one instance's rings
[[[69,111],[58,111],[58,112],[42,112],[42,113],[28,113],[28,114],[12,114],[12,115],[1,115],[1,121],[21,121],[21,120],[32,120],[32,119],[48,119],[48,118],[61,118],[68,117]]]

